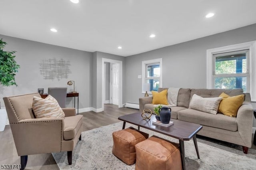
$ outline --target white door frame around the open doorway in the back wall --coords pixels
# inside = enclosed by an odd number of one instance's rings
[[[114,60],[114,59],[107,59],[107,58],[102,58],[102,111],[104,111],[104,93],[106,93],[105,88],[104,88],[104,62],[108,63],[116,63],[118,64],[118,107],[123,107],[122,106],[122,65],[123,62],[120,60]]]

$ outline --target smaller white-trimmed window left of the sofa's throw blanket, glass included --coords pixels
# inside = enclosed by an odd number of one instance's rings
[[[162,87],[162,58],[142,61],[142,93]]]

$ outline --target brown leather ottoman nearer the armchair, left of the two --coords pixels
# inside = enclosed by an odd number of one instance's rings
[[[148,138],[148,134],[129,127],[112,133],[112,153],[128,165],[136,161],[135,145]]]

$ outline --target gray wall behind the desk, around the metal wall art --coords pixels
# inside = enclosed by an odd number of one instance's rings
[[[73,91],[73,85],[67,85],[69,80],[75,81],[76,91],[79,93],[79,108],[91,107],[90,62],[92,53],[3,35],[0,35],[0,38],[8,43],[4,50],[17,51],[16,61],[20,65],[16,74],[18,87],[0,85],[1,107],[4,107],[2,97],[34,93],[37,92],[38,88],[44,88],[44,93],[47,93],[48,87],[67,87],[68,92]],[[72,73],[68,79],[45,80],[40,74],[39,63],[42,59],[53,58],[70,61]],[[66,105],[67,107],[74,107],[74,98],[67,98]]]

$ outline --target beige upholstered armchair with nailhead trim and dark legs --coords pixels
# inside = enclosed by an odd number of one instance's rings
[[[4,104],[14,138],[21,169],[26,167],[28,155],[52,152],[68,153],[72,164],[72,150],[81,140],[82,115],[75,108],[63,108],[64,118],[38,118],[32,111],[33,97],[39,93],[4,97]]]

